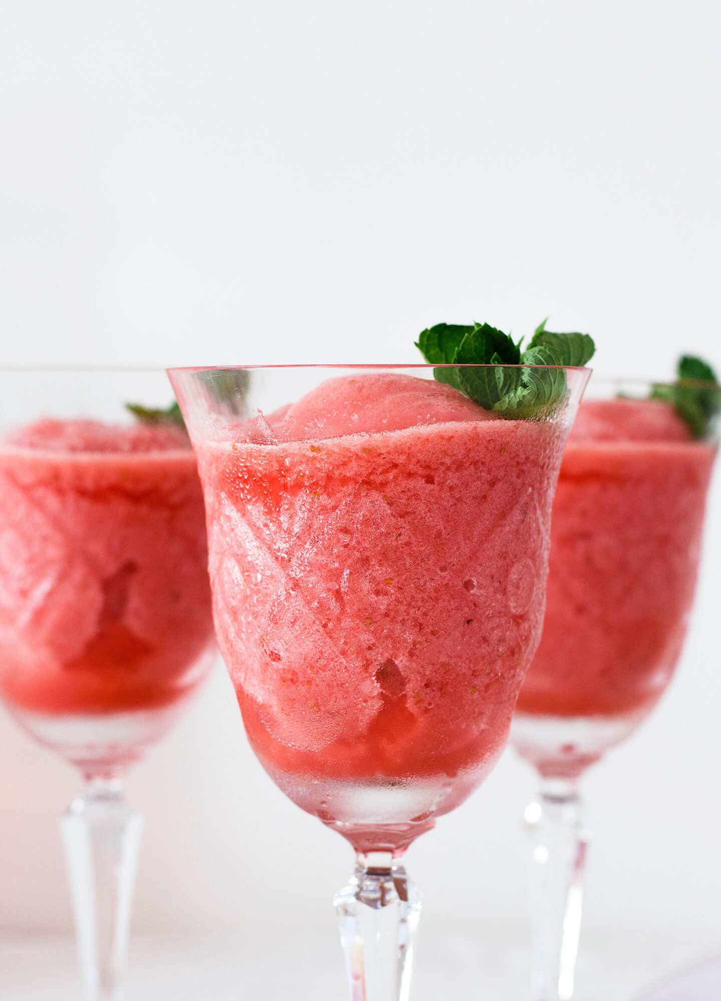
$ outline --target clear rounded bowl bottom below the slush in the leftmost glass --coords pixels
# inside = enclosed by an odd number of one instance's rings
[[[158,709],[96,716],[52,716],[12,709],[18,723],[45,747],[82,772],[112,772],[142,758],[150,745],[163,738],[185,711],[187,698]]]

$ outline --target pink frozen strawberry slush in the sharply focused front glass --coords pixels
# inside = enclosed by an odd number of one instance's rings
[[[194,441],[218,642],[268,770],[490,767],[538,643],[564,438],[383,373]]]

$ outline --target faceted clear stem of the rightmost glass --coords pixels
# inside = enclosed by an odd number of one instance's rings
[[[574,992],[583,875],[591,831],[578,787],[544,779],[526,809],[531,834],[533,1001],[569,1001]]]

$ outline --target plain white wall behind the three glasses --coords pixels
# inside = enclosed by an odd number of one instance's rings
[[[550,315],[603,374],[721,366],[720,29],[716,0],[6,0],[0,361],[405,362],[442,319]],[[587,783],[586,941],[659,972],[721,945],[719,554],[716,489],[677,680]],[[8,932],[69,927],[76,787],[0,718]],[[532,790],[508,754],[412,849],[429,929],[523,934]],[[130,795],[136,929],[333,948],[349,849],[261,773],[221,671]]]

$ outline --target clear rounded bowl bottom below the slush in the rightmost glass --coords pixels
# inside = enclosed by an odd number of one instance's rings
[[[647,710],[622,716],[536,716],[516,712],[511,744],[546,778],[575,779],[627,740]]]

